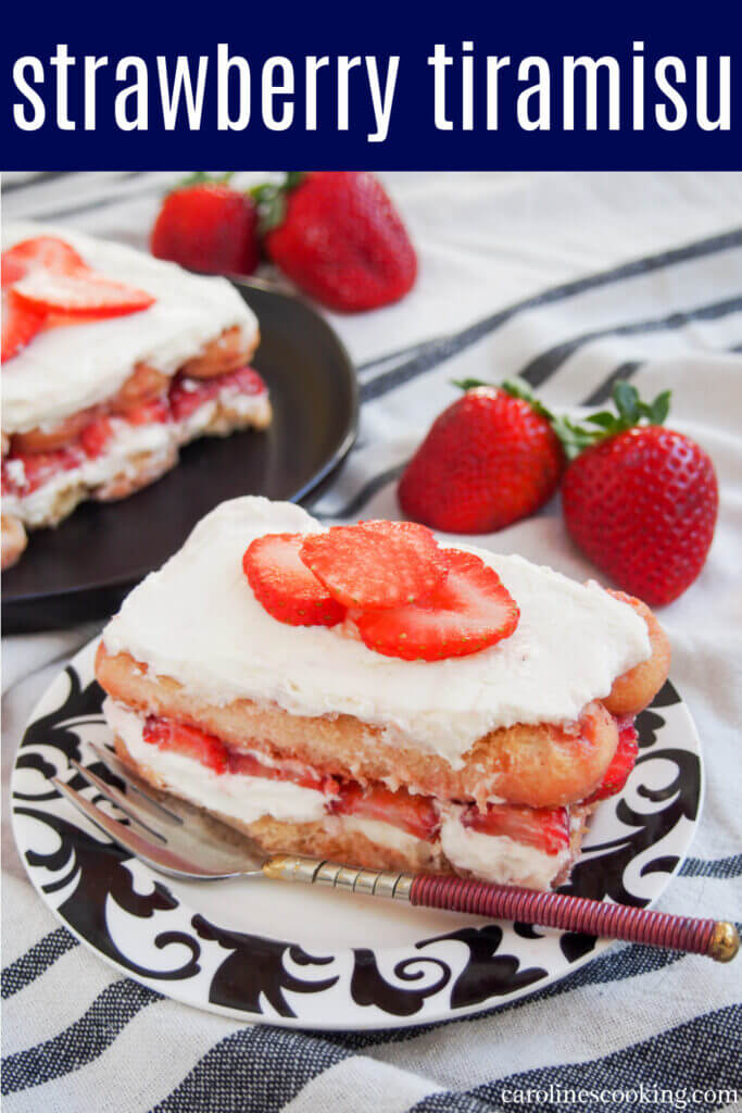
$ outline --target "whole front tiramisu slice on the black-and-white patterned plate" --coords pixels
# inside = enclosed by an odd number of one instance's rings
[[[131,592],[96,671],[121,758],[268,851],[548,888],[669,659],[596,583],[245,498]]]

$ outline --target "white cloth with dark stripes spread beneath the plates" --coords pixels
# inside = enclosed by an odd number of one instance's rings
[[[10,175],[3,215],[144,244],[171,180]],[[453,378],[520,373],[554,406],[600,403],[616,377],[650,395],[672,386],[673,423],[713,456],[722,501],[701,580],[662,615],[708,782],[693,856],[660,907],[739,920],[742,178],[387,181],[419,248],[421,277],[397,306],[332,317],[356,361],[363,406],[358,442],[315,511],[328,521],[398,515],[395,479],[455,397]],[[483,540],[577,578],[591,572],[556,504]],[[6,640],[3,792],[33,702],[93,632]],[[26,880],[3,804],[7,1113],[742,1109],[739,967],[615,946],[557,985],[448,1024],[329,1034],[241,1025],[120,978],[57,926]]]

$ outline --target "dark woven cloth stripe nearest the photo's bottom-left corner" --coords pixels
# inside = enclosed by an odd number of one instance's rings
[[[159,993],[130,978],[112,982],[59,1035],[3,1058],[2,1093],[17,1093],[79,1071],[101,1055],[137,1013],[161,999]]]

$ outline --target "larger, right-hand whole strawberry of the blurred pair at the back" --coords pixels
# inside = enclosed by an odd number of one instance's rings
[[[254,191],[269,257],[317,302],[344,313],[403,297],[417,275],[405,227],[372,174],[290,174]]]

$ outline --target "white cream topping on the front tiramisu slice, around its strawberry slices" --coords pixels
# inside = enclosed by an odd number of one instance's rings
[[[515,633],[478,653],[403,661],[326,627],[286,626],[253,594],[243,554],[264,533],[321,529],[290,503],[222,503],[128,595],[103,631],[108,651],[210,703],[247,698],[291,715],[355,716],[454,768],[498,727],[574,721],[650,657],[645,622],[597,583],[468,545],[459,548],[492,565],[521,609]]]

